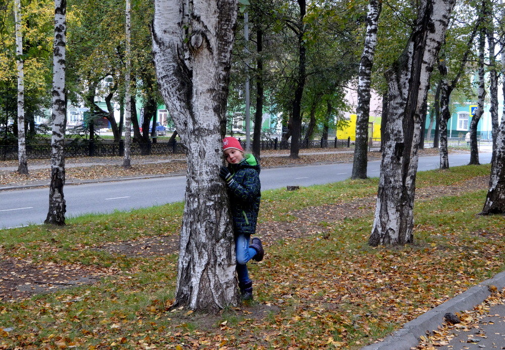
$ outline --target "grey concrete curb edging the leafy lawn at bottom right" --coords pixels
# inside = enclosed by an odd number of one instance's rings
[[[488,286],[491,285],[496,286],[498,290],[504,288],[505,271],[407,322],[403,328],[387,336],[383,341],[364,346],[361,350],[410,350],[411,347],[419,344],[419,336],[437,329],[442,324],[443,315],[446,312],[471,310],[481,304],[491,294],[488,290]]]

